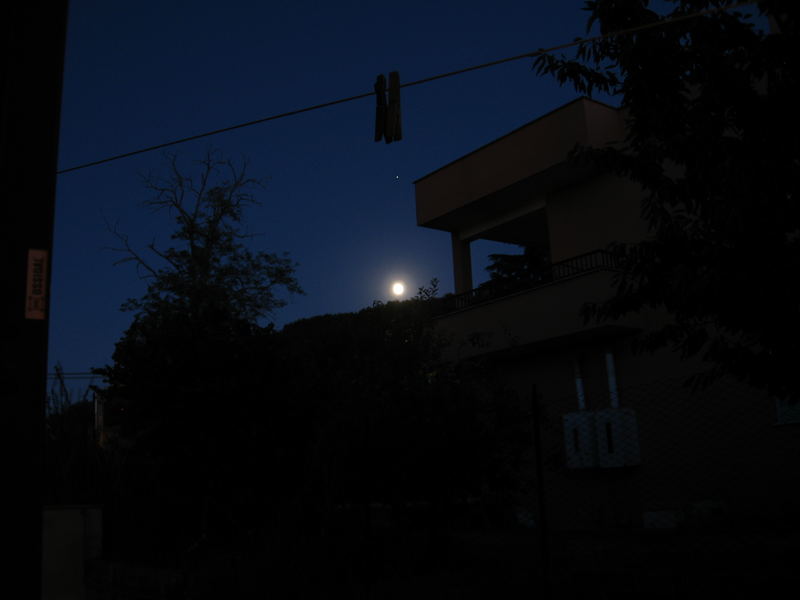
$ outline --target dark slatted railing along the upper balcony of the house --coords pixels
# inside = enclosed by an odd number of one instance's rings
[[[607,250],[594,250],[553,263],[532,273],[524,281],[488,281],[463,294],[445,296],[442,299],[440,314],[469,308],[476,304],[490,302],[518,292],[536,289],[556,281],[571,279],[596,271],[616,271],[618,269],[619,266],[613,254]]]

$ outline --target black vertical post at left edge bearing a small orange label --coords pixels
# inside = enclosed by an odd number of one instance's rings
[[[67,0],[12,1],[0,19],[0,402],[3,585],[41,600],[47,334]],[[10,527],[9,527],[10,525]]]

